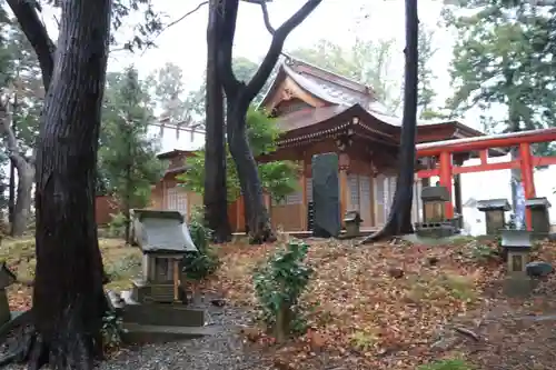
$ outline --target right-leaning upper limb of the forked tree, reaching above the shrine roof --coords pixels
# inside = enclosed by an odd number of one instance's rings
[[[251,101],[262,89],[268,77],[278,61],[284,49],[284,42],[291,31],[301,24],[309,14],[317,9],[322,0],[308,0],[294,16],[291,16],[282,26],[280,26],[272,36],[272,42],[268,48],[267,54],[260,63],[259,69],[246,87],[245,97]]]

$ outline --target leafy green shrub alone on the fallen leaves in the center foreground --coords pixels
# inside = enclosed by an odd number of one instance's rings
[[[306,290],[312,269],[305,262],[309,246],[290,241],[255,271],[255,292],[262,320],[278,341],[302,329],[299,297]]]

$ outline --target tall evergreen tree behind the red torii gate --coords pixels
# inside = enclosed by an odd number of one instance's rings
[[[459,1],[446,10],[447,22],[457,31],[451,62],[455,93],[449,100],[453,111],[461,114],[479,109],[487,132],[554,127],[555,62],[547,52],[554,34],[550,13],[527,1],[507,0]],[[552,152],[547,144],[535,150]],[[516,150],[512,154],[518,157]],[[512,189],[516,209],[522,192],[519,170],[512,171]],[[518,222],[523,222],[522,208],[516,209]]]

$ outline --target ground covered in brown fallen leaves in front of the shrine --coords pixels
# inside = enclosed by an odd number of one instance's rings
[[[302,297],[309,329],[284,346],[257,330],[252,350],[279,369],[552,369],[556,354],[556,283],[540,281],[528,298],[507,298],[504,264],[493,241],[459,238],[446,244],[308,239],[315,269]],[[109,288],[129,287],[140,273],[140,251],[100,241]],[[31,239],[4,239],[0,260],[32,280]],[[279,243],[218,247],[221,267],[201,288],[235,306],[257,308],[252,272]],[[536,247],[534,260],[554,262],[556,244]],[[30,307],[31,288],[9,288],[12,310]],[[540,316],[544,314],[544,316]],[[525,319],[524,319],[525,318]],[[547,319],[546,319],[547,318]],[[545,320],[546,319],[546,320]],[[550,323],[550,324],[547,324]],[[456,334],[455,327],[473,336]],[[446,337],[446,332],[451,336]],[[455,340],[454,340],[455,339]],[[475,340],[478,339],[478,340]],[[447,346],[445,346],[447,343]],[[438,344],[438,346],[437,346]],[[435,367],[438,361],[459,366]],[[421,366],[423,368],[419,368]]]

